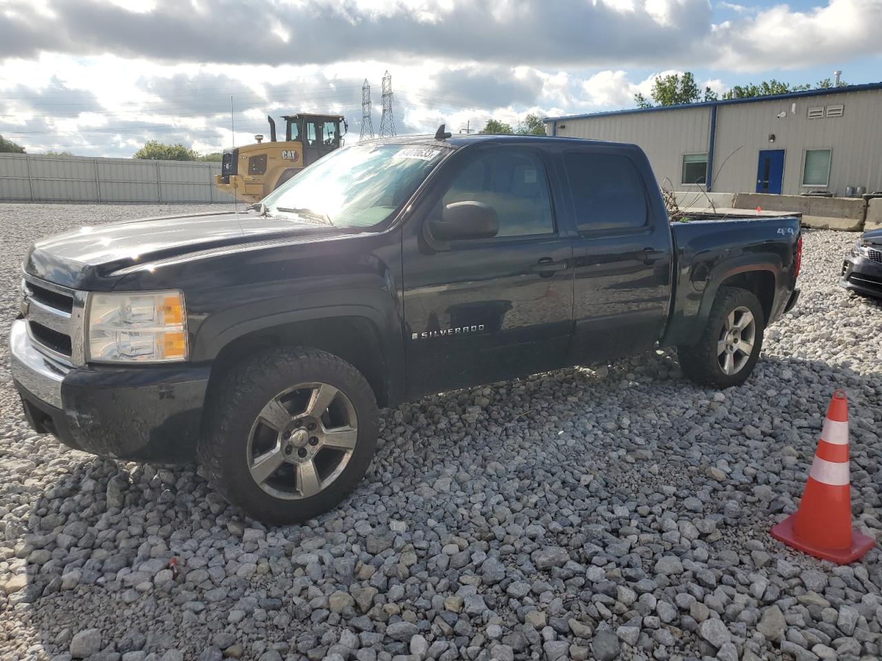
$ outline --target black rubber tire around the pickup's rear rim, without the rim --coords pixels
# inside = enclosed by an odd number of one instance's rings
[[[729,314],[736,308],[748,308],[753,315],[756,331],[753,351],[750,358],[736,374],[726,374],[720,365],[717,343],[724,323]],[[691,381],[699,385],[711,386],[720,390],[741,385],[751,375],[762,351],[763,333],[766,330],[766,316],[756,295],[740,287],[722,286],[717,290],[714,305],[707,317],[701,338],[694,345],[677,347],[680,368]]]

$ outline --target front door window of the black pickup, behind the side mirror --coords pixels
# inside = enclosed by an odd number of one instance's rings
[[[447,189],[442,204],[467,201],[496,209],[497,236],[554,232],[545,169],[533,152],[498,150],[471,161]]]

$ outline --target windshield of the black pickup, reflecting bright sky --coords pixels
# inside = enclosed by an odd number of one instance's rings
[[[273,191],[263,204],[271,216],[372,227],[413,195],[444,151],[420,145],[343,147]]]

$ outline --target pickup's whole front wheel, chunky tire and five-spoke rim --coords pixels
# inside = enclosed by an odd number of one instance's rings
[[[267,524],[333,509],[377,443],[377,402],[345,360],[303,347],[243,360],[213,391],[199,460],[228,501]]]

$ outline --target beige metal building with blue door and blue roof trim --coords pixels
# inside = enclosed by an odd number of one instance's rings
[[[635,143],[674,190],[882,190],[882,83],[548,117],[545,130]]]

